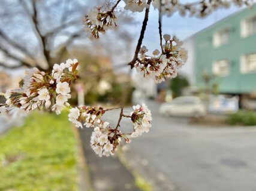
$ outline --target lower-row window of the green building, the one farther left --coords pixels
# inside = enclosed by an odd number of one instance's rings
[[[219,60],[213,63],[212,72],[218,76],[227,76],[230,74],[230,64],[227,60]]]

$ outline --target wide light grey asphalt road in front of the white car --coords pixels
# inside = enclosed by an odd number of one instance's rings
[[[158,104],[152,130],[132,140],[132,151],[181,191],[256,190],[256,128],[203,127],[165,118]]]

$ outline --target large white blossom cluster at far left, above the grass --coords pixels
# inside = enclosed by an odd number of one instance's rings
[[[70,83],[77,78],[77,60],[55,64],[52,74],[40,72],[37,68],[28,70],[18,90],[7,91],[6,104],[23,110],[34,110],[44,106],[57,114],[69,106]]]

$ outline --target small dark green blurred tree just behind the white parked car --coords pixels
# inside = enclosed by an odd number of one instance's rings
[[[173,97],[179,97],[182,95],[182,90],[189,86],[188,79],[185,76],[177,75],[170,82],[170,89],[173,93]]]

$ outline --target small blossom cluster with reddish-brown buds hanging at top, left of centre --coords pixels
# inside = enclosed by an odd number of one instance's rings
[[[95,7],[85,16],[86,32],[94,38],[100,38],[100,33],[116,27],[114,10],[101,12],[101,8]]]

